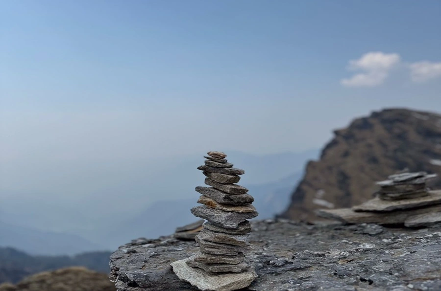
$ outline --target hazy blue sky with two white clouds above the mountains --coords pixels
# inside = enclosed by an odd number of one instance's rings
[[[122,163],[440,112],[440,27],[440,1],[0,0],[0,199],[102,197]]]

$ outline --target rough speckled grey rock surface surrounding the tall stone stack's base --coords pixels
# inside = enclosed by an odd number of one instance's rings
[[[242,291],[441,290],[441,224],[251,224],[245,255],[259,277]],[[172,236],[134,240],[112,254],[110,279],[118,291],[196,290],[170,264],[198,249]]]

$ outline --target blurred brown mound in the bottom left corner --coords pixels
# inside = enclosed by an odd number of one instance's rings
[[[115,286],[106,274],[71,267],[38,273],[17,285],[1,284],[0,291],[115,291]]]

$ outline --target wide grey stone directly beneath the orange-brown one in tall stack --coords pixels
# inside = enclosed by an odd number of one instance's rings
[[[205,205],[195,206],[191,209],[191,212],[197,217],[224,228],[237,228],[240,223],[258,215],[257,211],[248,213],[226,212]]]

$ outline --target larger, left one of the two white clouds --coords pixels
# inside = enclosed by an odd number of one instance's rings
[[[340,84],[346,87],[375,87],[384,83],[389,72],[400,62],[396,53],[386,54],[381,51],[368,52],[358,60],[349,61],[348,70],[361,70],[350,78],[342,79]]]

